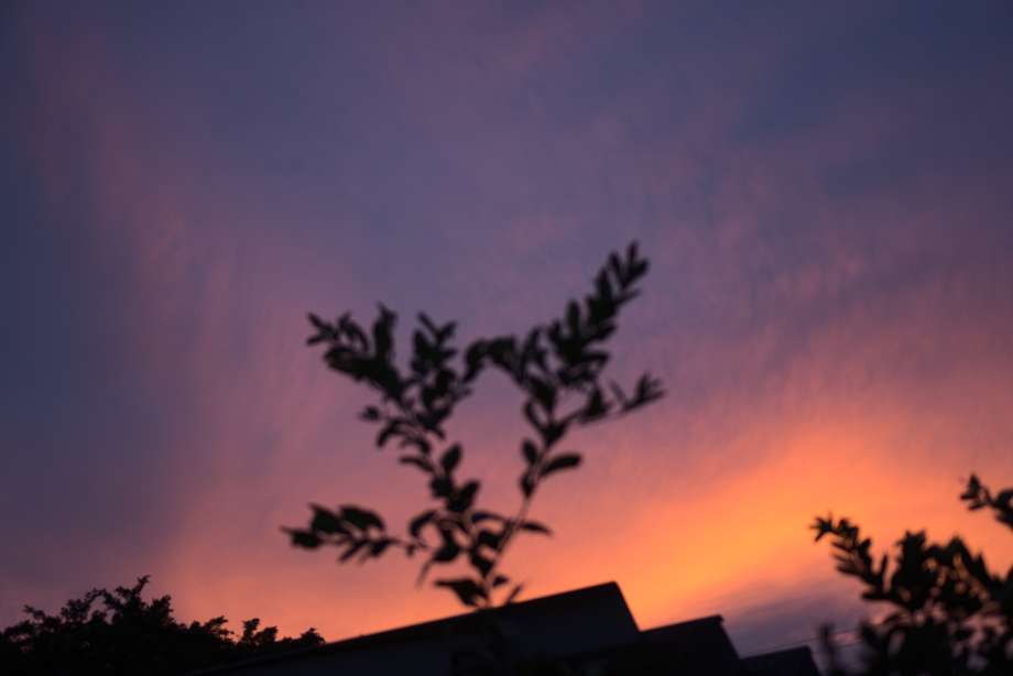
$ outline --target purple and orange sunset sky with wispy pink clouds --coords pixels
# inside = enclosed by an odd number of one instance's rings
[[[568,437],[524,598],[614,580],[749,654],[874,615],[817,515],[1005,570],[958,495],[1013,486],[1011,34],[1000,1],[4,3],[0,625],[143,575],[233,629],[460,612],[281,532],[428,500],[306,313],[521,334],[633,240],[608,373],[667,396]],[[449,424],[504,509],[520,404],[489,375]]]

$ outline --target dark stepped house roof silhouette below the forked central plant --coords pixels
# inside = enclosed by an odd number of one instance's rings
[[[609,582],[189,676],[462,676],[492,665],[524,667],[527,673],[593,667],[610,676],[745,676],[751,672],[721,621],[714,615],[640,631],[619,586]],[[781,665],[773,659],[755,664],[764,669]]]

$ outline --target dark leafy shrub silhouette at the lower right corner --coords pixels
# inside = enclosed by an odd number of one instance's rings
[[[991,509],[1013,528],[1013,489],[993,497],[972,475],[960,498],[971,510]],[[928,544],[923,531],[900,541],[891,574],[887,556],[876,564],[872,541],[849,520],[817,519],[813,528],[817,541],[834,536],[837,568],[865,584],[862,597],[892,609],[881,622],[862,625],[864,673],[1013,674],[1013,568],[993,573],[959,537]]]

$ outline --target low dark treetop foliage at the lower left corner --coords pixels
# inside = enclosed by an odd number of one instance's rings
[[[277,628],[258,631],[258,619],[242,623],[238,640],[225,618],[182,624],[172,617],[170,597],[141,598],[146,584],[148,576],[111,593],[94,589],[55,615],[26,606],[31,619],[0,634],[0,674],[163,676],[324,643],[314,629],[279,639]]]

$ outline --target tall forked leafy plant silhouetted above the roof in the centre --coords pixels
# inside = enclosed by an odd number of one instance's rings
[[[451,345],[456,325],[437,326],[420,314],[407,374],[395,363],[396,316],[383,305],[370,335],[350,314],[334,323],[309,315],[315,332],[308,344],[326,346],[327,364],[379,391],[379,404],[367,406],[361,414],[362,419],[380,426],[377,446],[396,441],[404,449],[400,461],[423,472],[436,504],[420,512],[407,524],[404,536],[388,533],[383,520],[371,510],[312,505],[307,528],[284,528],[293,544],[338,547],[342,563],[375,558],[391,547],[409,556],[422,552],[426,560],[420,581],[432,566],[464,559],[471,569],[469,576],[435,584],[453,590],[467,606],[495,606],[493,590],[510,581],[500,565],[513,538],[521,533],[549,533],[548,527],[527,517],[536,490],[549,476],[580,462],[579,454],[557,450],[566,433],[628,413],[663,394],[658,381],[647,373],[630,395],[619,385],[610,382],[606,386],[601,381],[609,361],[603,345],[616,330],[619,309],[639,294],[634,286],[646,270],[647,261],[638,255],[635,242],[631,243],[625,260],[610,255],[582,305],[570,301],[562,318],[535,326],[523,338],[476,340],[460,357]],[[521,495],[511,515],[478,509],[481,482],[458,478],[464,450],[460,444],[447,444],[444,428],[455,406],[471,393],[476,379],[489,367],[505,373],[524,394],[524,419],[534,432],[532,438],[520,443]],[[427,533],[435,542],[426,538]],[[504,602],[512,601],[520,590],[521,585],[509,592],[504,589]]]

